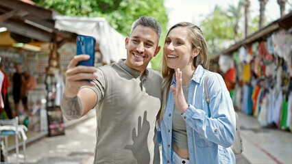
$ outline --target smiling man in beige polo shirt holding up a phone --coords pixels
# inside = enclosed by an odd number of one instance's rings
[[[77,55],[69,64],[61,109],[68,119],[96,109],[94,163],[160,163],[155,122],[162,77],[147,65],[160,51],[161,32],[154,18],[141,16],[125,39],[127,59],[97,70],[76,67],[88,55]],[[80,89],[83,85],[87,86]]]

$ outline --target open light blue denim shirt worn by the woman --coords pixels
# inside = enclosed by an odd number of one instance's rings
[[[223,78],[217,73],[208,77],[207,87],[210,104],[206,102],[204,79],[208,70],[199,65],[193,74],[188,90],[188,109],[182,114],[186,121],[188,152],[191,163],[235,163],[229,148],[235,137],[235,115],[230,94]],[[175,76],[171,85],[175,86]],[[176,86],[175,86],[176,87]],[[175,103],[169,97],[165,113],[158,125],[158,141],[162,143],[162,161],[171,163],[172,116]]]

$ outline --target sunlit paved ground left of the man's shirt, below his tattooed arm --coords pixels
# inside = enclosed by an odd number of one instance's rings
[[[27,143],[26,163],[93,163],[96,141],[95,112],[92,111],[79,120],[64,120],[64,124],[65,135],[42,137],[37,141]],[[22,148],[20,148],[19,153],[19,161],[24,163]],[[15,152],[10,152],[8,161],[9,163],[16,163]]]

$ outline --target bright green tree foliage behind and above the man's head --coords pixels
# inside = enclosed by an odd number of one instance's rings
[[[167,11],[164,0],[32,0],[45,8],[52,8],[64,16],[104,17],[110,25],[129,36],[131,25],[139,16],[153,16],[158,20],[163,33],[167,30]],[[162,37],[160,45],[164,42]],[[151,60],[152,68],[159,69],[161,52]]]

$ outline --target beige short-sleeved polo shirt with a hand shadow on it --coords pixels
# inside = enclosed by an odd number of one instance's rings
[[[156,115],[161,106],[162,77],[147,69],[117,64],[98,68],[92,88],[98,102],[94,163],[160,163]]]

